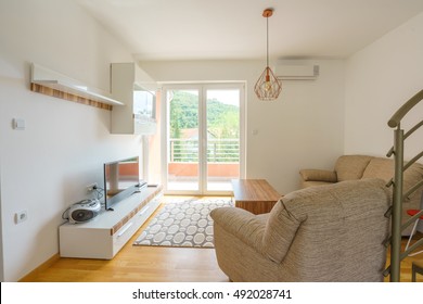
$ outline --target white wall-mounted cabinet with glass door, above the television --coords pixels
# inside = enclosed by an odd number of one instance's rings
[[[112,134],[156,131],[156,83],[136,63],[112,63],[112,96],[124,106],[112,110]]]

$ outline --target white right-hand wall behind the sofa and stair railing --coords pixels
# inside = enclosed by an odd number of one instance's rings
[[[388,119],[423,89],[423,13],[392,30],[347,61],[345,153],[385,155],[394,142]],[[402,124],[420,122],[423,103]],[[423,130],[407,141],[407,159],[423,149]]]

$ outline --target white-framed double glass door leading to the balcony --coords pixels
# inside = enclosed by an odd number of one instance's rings
[[[167,193],[229,194],[244,176],[244,86],[165,86]]]

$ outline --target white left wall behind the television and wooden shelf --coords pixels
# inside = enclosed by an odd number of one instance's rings
[[[68,0],[0,2],[0,176],[4,280],[59,251],[66,207],[102,185],[102,164],[140,154],[141,138],[110,134],[110,112],[29,90],[29,63],[110,90],[110,63],[132,61],[114,37]],[[12,128],[13,118],[26,122]],[[28,219],[14,223],[14,214]]]

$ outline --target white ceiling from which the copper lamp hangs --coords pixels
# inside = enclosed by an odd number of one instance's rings
[[[136,59],[347,58],[423,12],[423,0],[74,0]]]

